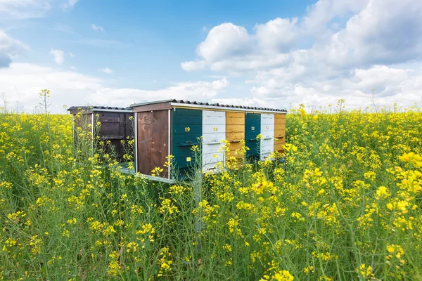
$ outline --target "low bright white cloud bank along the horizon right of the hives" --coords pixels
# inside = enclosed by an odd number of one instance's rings
[[[252,86],[252,98],[267,105],[286,107],[289,104],[304,103],[314,108],[335,104],[338,99],[346,100],[349,108],[371,106],[371,90],[376,89],[378,105],[408,106],[421,101],[422,74],[407,69],[374,65],[367,69],[356,69],[345,77],[306,79],[290,83],[283,71],[261,72]]]

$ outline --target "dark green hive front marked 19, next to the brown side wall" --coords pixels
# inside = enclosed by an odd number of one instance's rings
[[[179,179],[184,178],[191,171],[191,167],[196,164],[191,148],[193,145],[199,145],[198,138],[202,135],[202,119],[202,110],[184,108],[172,110],[172,155],[174,156],[172,171],[177,172]]]

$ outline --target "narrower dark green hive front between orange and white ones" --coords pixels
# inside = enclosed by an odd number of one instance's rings
[[[260,113],[246,113],[245,115],[245,145],[249,148],[246,157],[251,161],[260,159],[260,141],[257,140],[261,132]]]

